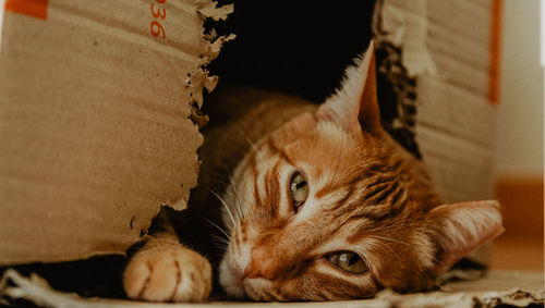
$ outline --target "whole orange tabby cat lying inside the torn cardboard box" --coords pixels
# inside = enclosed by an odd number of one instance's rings
[[[373,41],[320,106],[246,88],[208,104],[199,186],[130,254],[130,298],[204,301],[213,272],[239,299],[426,291],[504,231],[496,201],[443,205],[421,162],[384,131]],[[215,229],[225,251],[210,248]]]

